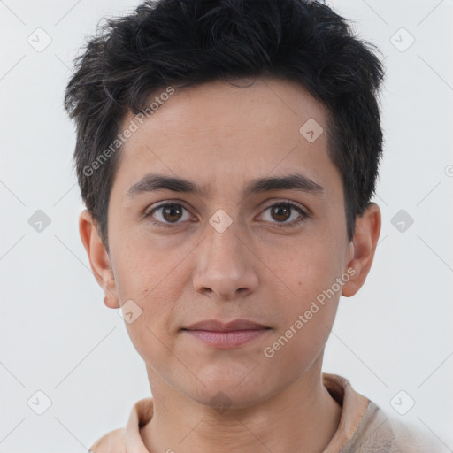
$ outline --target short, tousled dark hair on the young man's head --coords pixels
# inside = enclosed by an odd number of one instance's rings
[[[328,111],[328,154],[342,174],[349,241],[375,191],[382,154],[383,65],[331,8],[309,0],[157,0],[105,19],[74,59],[65,110],[77,126],[74,165],[82,199],[108,248],[107,217],[119,152],[86,168],[159,88],[276,77]],[[302,125],[301,125],[302,126]]]

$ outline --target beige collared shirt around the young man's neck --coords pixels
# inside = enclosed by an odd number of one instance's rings
[[[389,416],[349,381],[336,374],[323,373],[323,383],[342,406],[340,423],[323,453],[433,453],[434,441],[416,434],[400,420]],[[143,398],[130,412],[127,426],[105,434],[90,448],[90,453],[150,453],[143,444],[140,428],[150,422],[152,398]]]

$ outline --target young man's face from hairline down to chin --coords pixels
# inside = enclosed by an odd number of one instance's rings
[[[153,392],[206,404],[247,406],[309,375],[371,265],[347,240],[326,111],[288,81],[176,90],[124,143],[108,225],[108,257],[81,224],[82,239],[106,304],[133,313]]]

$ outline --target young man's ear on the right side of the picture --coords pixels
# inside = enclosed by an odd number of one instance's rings
[[[356,233],[349,243],[347,271],[350,279],[342,287],[342,296],[354,296],[365,282],[380,235],[380,207],[370,203],[356,219]],[[353,270],[353,271],[352,271]]]

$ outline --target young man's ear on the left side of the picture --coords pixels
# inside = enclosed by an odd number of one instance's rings
[[[96,222],[88,210],[82,211],[79,217],[79,233],[83,247],[87,251],[91,270],[99,286],[104,289],[105,305],[110,308],[119,308],[119,298],[110,257],[97,233]]]

